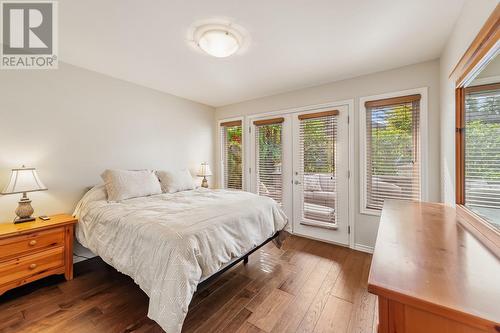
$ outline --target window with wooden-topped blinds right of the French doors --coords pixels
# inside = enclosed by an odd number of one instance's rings
[[[385,199],[420,200],[420,99],[365,103],[366,209],[381,210]]]

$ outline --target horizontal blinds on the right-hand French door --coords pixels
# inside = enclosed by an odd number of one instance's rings
[[[302,217],[309,221],[336,222],[336,149],[338,112],[300,115],[300,178]]]

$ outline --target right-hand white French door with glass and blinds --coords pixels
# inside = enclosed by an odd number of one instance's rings
[[[293,230],[348,244],[348,108],[293,115]]]

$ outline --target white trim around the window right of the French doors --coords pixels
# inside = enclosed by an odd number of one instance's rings
[[[366,215],[380,216],[381,211],[375,209],[366,208],[366,108],[365,102],[371,100],[393,98],[400,96],[407,96],[413,94],[420,94],[420,176],[421,176],[421,190],[420,190],[420,200],[426,201],[429,197],[429,186],[428,186],[428,165],[429,165],[429,138],[427,131],[427,121],[428,121],[428,88],[416,88],[408,89],[402,91],[396,91],[386,94],[365,96],[359,99],[359,203],[360,203],[360,213]]]

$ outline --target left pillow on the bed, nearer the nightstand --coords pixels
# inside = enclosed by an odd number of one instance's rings
[[[101,175],[108,192],[108,201],[161,194],[158,178],[150,170],[106,170]]]

